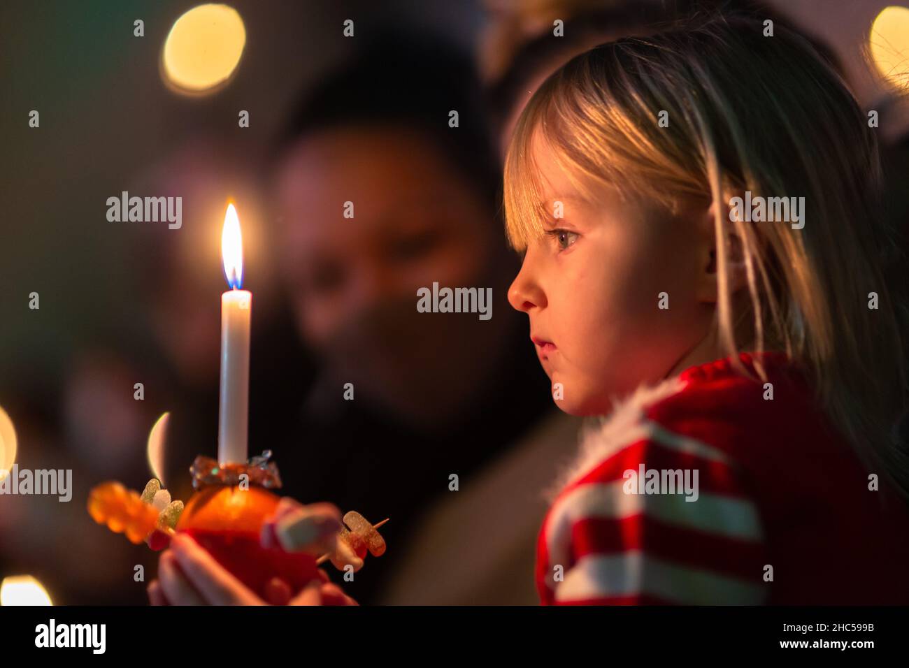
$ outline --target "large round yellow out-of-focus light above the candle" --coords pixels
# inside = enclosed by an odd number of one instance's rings
[[[233,7],[193,7],[176,20],[165,40],[165,79],[185,93],[214,91],[234,74],[245,44],[243,19]]]

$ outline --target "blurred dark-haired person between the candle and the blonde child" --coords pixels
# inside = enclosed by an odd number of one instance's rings
[[[275,453],[285,494],[391,518],[387,555],[350,586],[362,603],[533,603],[538,484],[576,424],[534,397],[548,383],[505,302],[517,260],[469,59],[412,36],[366,45],[305,95],[277,165],[275,241],[320,368]],[[419,313],[434,283],[492,288],[492,317]],[[512,503],[491,495],[496,467]],[[427,587],[425,569],[445,578]]]

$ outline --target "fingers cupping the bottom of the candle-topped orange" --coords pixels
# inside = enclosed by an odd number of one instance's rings
[[[148,585],[152,605],[356,605],[328,575],[319,569],[319,579],[308,583],[291,598],[290,587],[274,578],[266,588],[267,600],[259,598],[191,537],[178,533],[170,549],[161,554],[159,580]]]

